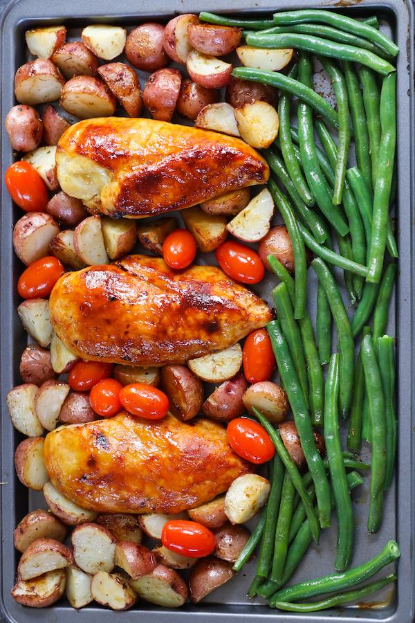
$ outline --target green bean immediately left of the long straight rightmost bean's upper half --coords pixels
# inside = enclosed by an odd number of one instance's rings
[[[376,175],[378,172],[378,156],[380,146],[380,95],[376,74],[365,66],[359,69],[360,82],[362,83],[363,102],[365,104],[367,131],[369,133],[369,146],[371,157],[372,186],[375,188]]]

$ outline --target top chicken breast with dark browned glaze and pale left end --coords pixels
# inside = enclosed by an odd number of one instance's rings
[[[189,208],[269,177],[266,161],[239,138],[141,118],[71,125],[56,163],[62,190],[111,217]]]

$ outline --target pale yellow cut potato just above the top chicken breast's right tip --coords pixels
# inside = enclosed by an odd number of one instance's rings
[[[236,108],[235,118],[243,140],[257,150],[264,150],[277,138],[279,117],[268,102],[257,101]]]

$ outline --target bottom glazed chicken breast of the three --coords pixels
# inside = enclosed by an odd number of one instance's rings
[[[46,435],[50,480],[81,507],[110,513],[178,513],[226,491],[251,471],[221,424],[158,422],[120,413]]]

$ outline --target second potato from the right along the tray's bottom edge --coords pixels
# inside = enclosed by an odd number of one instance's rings
[[[130,586],[138,597],[165,608],[183,606],[187,599],[187,586],[180,575],[160,564],[148,575],[132,580]]]

